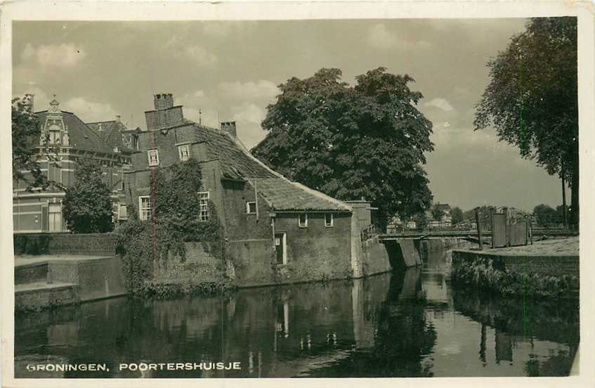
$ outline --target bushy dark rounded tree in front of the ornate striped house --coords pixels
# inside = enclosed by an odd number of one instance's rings
[[[102,179],[99,165],[90,159],[78,161],[76,183],[66,189],[64,218],[74,233],[105,233],[114,228],[110,188]]]

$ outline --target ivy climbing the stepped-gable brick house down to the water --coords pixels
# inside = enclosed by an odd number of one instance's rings
[[[209,221],[199,221],[202,174],[195,160],[157,169],[151,198],[155,207],[147,221],[141,221],[136,207],[129,220],[120,225],[119,252],[123,257],[124,278],[130,292],[172,295],[221,290],[222,285],[163,285],[155,282],[154,266],[173,257],[185,260],[185,243],[202,243],[209,254],[225,262],[221,222],[209,202]]]

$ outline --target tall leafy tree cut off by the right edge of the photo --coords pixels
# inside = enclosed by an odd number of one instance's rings
[[[570,224],[579,220],[576,18],[533,18],[488,62],[490,84],[476,129],[493,125],[549,174],[570,184]]]

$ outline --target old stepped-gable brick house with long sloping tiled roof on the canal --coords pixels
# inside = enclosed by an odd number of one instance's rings
[[[214,204],[237,285],[358,277],[370,274],[365,268],[390,269],[386,257],[381,258],[384,266],[364,263],[360,230],[362,220],[370,219],[369,203],[359,201],[355,212],[346,202],[285,179],[237,140],[235,122],[209,128],[185,119],[171,94],[157,94],[154,102],[155,109],[145,112],[147,131],[134,134],[140,152],[124,172],[124,193],[140,219],[152,214],[152,169],[193,158],[201,164],[203,180],[197,216],[208,220],[207,204]]]

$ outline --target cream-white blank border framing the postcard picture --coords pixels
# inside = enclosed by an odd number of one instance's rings
[[[374,384],[378,387],[593,387],[595,385],[594,296],[595,273],[595,28],[594,4],[589,1],[16,1],[0,6],[0,171],[11,181],[12,97],[11,41],[13,20],[302,20],[302,19],[402,19],[402,18],[528,18],[573,15],[579,33],[580,118],[580,375],[558,378],[374,378],[374,379],[14,379],[14,285],[12,244],[12,188],[1,185],[1,330],[3,387],[347,387]]]

